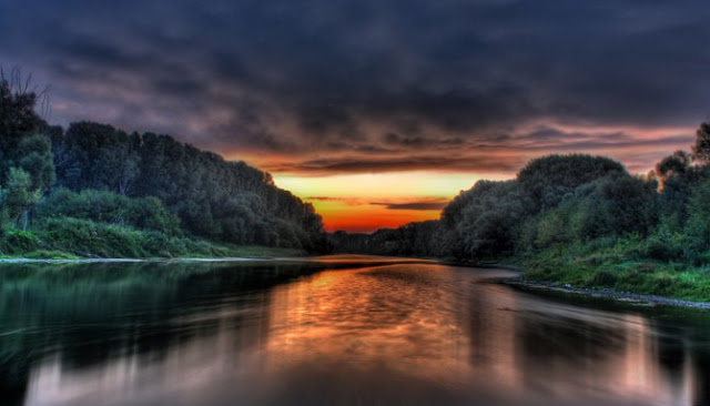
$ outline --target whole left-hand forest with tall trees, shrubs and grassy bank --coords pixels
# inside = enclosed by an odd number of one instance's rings
[[[40,97],[17,71],[0,80],[1,255],[326,250],[321,216],[268,173],[170,135],[51,126],[37,111]]]

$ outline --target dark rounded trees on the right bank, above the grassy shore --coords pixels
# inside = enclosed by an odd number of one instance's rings
[[[337,252],[474,262],[631,241],[623,255],[637,261],[707,264],[709,162],[710,124],[703,123],[692,153],[677,151],[643,176],[604,156],[549,155],[514,180],[477,182],[438,221],[329,238]]]

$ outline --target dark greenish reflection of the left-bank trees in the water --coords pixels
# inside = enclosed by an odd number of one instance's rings
[[[161,359],[175,345],[216,334],[224,323],[240,328],[253,315],[195,316],[225,307],[263,306],[263,294],[255,292],[318,267],[253,263],[3,265],[0,400],[21,404],[32,365],[52,353],[60,354],[63,368],[74,369],[126,353]]]

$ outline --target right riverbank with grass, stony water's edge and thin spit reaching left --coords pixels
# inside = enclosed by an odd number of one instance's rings
[[[447,261],[456,266],[519,272],[499,281],[530,291],[547,291],[621,302],[710,308],[710,267],[633,258],[618,250],[575,247],[540,251],[488,262]]]

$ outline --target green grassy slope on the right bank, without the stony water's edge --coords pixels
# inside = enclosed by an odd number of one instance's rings
[[[558,245],[513,263],[527,281],[710,302],[710,264],[704,258],[655,260],[647,242],[635,237]]]

